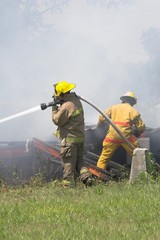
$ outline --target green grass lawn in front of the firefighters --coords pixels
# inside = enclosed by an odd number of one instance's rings
[[[0,239],[159,240],[160,182],[0,188]]]

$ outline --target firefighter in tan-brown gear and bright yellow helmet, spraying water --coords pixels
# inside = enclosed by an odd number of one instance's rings
[[[70,185],[80,175],[86,186],[91,186],[91,174],[83,165],[84,153],[84,112],[81,101],[74,92],[76,86],[66,81],[54,85],[54,98],[60,103],[52,107],[52,121],[61,141],[61,160],[63,164],[63,183]]]

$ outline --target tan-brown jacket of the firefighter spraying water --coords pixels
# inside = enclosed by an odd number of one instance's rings
[[[63,104],[52,109],[52,121],[58,126],[61,140],[84,142],[84,112],[81,101],[74,92],[64,96]]]

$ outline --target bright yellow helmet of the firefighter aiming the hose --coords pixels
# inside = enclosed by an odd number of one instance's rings
[[[58,83],[54,84],[53,86],[54,86],[56,97],[60,96],[62,93],[69,92],[73,88],[76,87],[76,85],[74,83],[68,83],[68,82],[65,82],[65,81],[58,82]]]

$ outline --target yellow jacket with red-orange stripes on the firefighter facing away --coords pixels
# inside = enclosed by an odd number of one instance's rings
[[[122,134],[129,140],[132,140],[131,138],[133,136],[133,126],[136,128],[139,135],[144,131],[145,124],[141,119],[141,115],[129,103],[113,105],[105,110],[104,113],[112,120],[112,122],[119,128]],[[105,121],[105,118],[100,115],[99,123]],[[115,141],[122,140],[112,125],[109,126],[106,138],[107,141],[112,141],[113,139]]]

